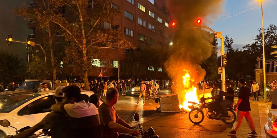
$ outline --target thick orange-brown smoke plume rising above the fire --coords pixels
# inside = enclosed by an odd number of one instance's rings
[[[176,21],[174,29],[173,46],[170,55],[165,62],[168,75],[177,83],[179,98],[183,95],[184,70],[189,71],[194,82],[191,85],[197,87],[196,82],[201,81],[206,71],[199,64],[211,56],[214,36],[206,31],[188,29],[196,27],[197,19],[207,21],[208,16],[215,16],[222,10],[223,0],[166,0],[167,11],[172,20]],[[204,24],[202,23],[202,26]],[[183,101],[181,101],[183,102]]]

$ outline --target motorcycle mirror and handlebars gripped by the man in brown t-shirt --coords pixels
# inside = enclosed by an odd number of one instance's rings
[[[135,113],[134,116],[133,116],[133,119],[135,121],[138,122],[139,124],[139,127],[138,128],[135,128],[136,130],[138,130],[140,132],[140,135],[141,135],[141,138],[159,138],[158,135],[155,135],[155,131],[154,129],[151,127],[149,128],[147,131],[146,130],[143,130],[141,127],[140,127],[140,123],[139,123],[139,113]],[[133,135],[134,136],[134,135]]]

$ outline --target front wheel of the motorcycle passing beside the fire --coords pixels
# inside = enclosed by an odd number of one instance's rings
[[[199,108],[193,108],[189,112],[189,119],[194,124],[200,124],[204,120],[204,113]]]

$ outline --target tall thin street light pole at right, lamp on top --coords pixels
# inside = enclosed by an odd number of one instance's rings
[[[267,102],[267,83],[266,83],[266,69],[265,69],[265,55],[264,55],[264,29],[263,29],[263,0],[261,1],[261,8],[262,8],[262,32],[263,32],[263,95],[264,95],[264,102]]]

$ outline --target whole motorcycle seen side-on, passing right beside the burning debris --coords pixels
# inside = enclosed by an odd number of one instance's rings
[[[234,106],[230,105],[229,108],[227,108],[228,110],[228,115],[230,116],[229,118],[224,118],[224,117],[218,117],[219,113],[221,113],[222,109],[211,109],[210,107],[207,106],[208,103],[205,102],[206,98],[202,97],[200,98],[199,104],[195,103],[195,102],[189,102],[192,103],[193,105],[190,106],[191,111],[189,112],[189,119],[192,123],[194,124],[200,124],[203,120],[204,120],[204,113],[203,113],[203,109],[206,110],[206,116],[209,119],[212,120],[220,120],[223,123],[227,124],[227,125],[231,125],[235,122],[236,120],[236,114],[233,111],[234,110]],[[209,109],[207,111],[207,109]]]

